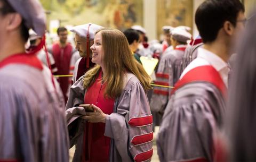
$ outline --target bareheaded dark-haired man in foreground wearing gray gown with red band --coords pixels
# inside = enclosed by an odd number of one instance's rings
[[[195,18],[204,46],[181,74],[165,109],[157,137],[160,161],[214,161],[214,138],[225,119],[230,46],[244,28],[233,20],[245,19],[244,6],[238,0],[206,0]]]

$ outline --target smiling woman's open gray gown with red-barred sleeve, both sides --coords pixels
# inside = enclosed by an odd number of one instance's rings
[[[125,82],[122,95],[115,99],[113,113],[106,118],[104,135],[111,138],[109,161],[150,161],[153,155],[153,120],[148,99],[135,75],[127,74]],[[83,154],[85,120],[79,117],[86,112],[77,106],[86,104],[85,93],[82,76],[71,86],[66,105],[70,147],[76,144],[73,161],[81,161]]]

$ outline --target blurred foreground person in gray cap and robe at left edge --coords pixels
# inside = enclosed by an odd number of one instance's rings
[[[25,52],[29,28],[44,35],[43,7],[35,0],[0,0],[0,8],[0,161],[67,162],[60,87],[36,51]]]

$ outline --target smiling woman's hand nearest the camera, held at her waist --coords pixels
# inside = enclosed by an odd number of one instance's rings
[[[82,118],[84,118],[85,120],[91,123],[105,123],[107,115],[104,114],[99,107],[93,104],[92,104],[92,107],[94,109],[94,112],[86,112],[86,115],[83,116]]]

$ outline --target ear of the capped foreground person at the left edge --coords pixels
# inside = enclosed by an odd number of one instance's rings
[[[15,30],[20,27],[20,24],[22,23],[22,17],[19,13],[9,13],[7,16],[7,30]]]

